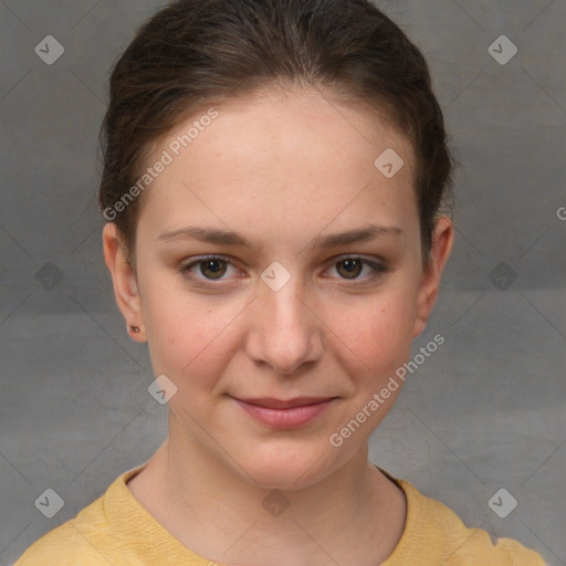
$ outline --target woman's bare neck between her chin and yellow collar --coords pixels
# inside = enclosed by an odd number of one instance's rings
[[[154,463],[164,479],[160,509],[164,501],[168,509],[150,511],[187,547],[221,564],[375,566],[397,545],[406,511],[400,489],[367,455],[365,443],[342,468],[297,490],[260,486],[193,442],[170,412],[169,438]]]

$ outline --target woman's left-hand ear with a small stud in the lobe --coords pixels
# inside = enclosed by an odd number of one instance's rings
[[[127,332],[134,340],[147,342],[136,272],[127,259],[123,239],[114,222],[104,227],[103,250],[104,261],[112,275],[116,303],[126,321]],[[134,332],[132,326],[139,331]]]

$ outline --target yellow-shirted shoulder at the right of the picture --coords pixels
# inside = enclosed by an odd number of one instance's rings
[[[384,566],[546,566],[537,553],[517,541],[493,542],[485,531],[467,527],[452,510],[427,497],[408,481],[395,481],[407,499],[407,521],[397,548]]]

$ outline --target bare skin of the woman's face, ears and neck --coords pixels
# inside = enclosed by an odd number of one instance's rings
[[[221,564],[375,566],[399,542],[406,501],[368,462],[367,442],[400,388],[339,448],[328,439],[409,359],[452,223],[437,220],[424,269],[410,143],[365,106],[272,88],[214,107],[218,118],[144,193],[133,265],[115,224],[104,228],[117,304],[140,327],[132,337],[148,342],[155,375],[177,386],[169,438],[128,488],[182,544]],[[405,160],[391,178],[374,166],[386,148]],[[313,247],[371,222],[402,234]],[[235,231],[261,249],[159,240],[195,226]],[[178,271],[207,254],[233,262],[217,264],[220,281],[202,264]],[[387,270],[348,274],[340,261],[358,254]],[[274,261],[291,275],[279,291],[261,280]],[[338,399],[302,428],[275,430],[230,396]],[[276,517],[262,506],[273,490],[290,503]]]

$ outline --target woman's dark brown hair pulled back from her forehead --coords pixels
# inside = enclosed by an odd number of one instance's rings
[[[177,0],[137,31],[114,66],[102,127],[99,206],[126,251],[134,255],[140,198],[115,206],[151,143],[211,101],[275,82],[370,104],[411,142],[427,263],[453,158],[423,55],[368,0]]]

